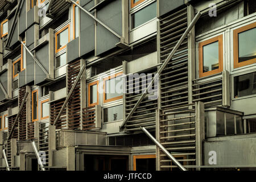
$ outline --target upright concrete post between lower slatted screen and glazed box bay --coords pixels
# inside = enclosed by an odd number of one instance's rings
[[[196,102],[196,166],[203,165],[204,125],[204,103]],[[197,170],[199,170],[199,168],[197,168]]]

